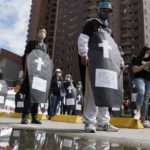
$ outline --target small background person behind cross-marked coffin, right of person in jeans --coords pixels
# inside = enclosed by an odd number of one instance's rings
[[[72,76],[67,74],[64,82],[65,101],[63,106],[63,114],[74,115],[76,105],[76,89],[73,85]]]

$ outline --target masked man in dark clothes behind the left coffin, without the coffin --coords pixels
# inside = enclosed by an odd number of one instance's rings
[[[28,76],[28,69],[27,69],[27,56],[33,50],[41,50],[41,51],[49,54],[48,45],[44,43],[45,38],[46,38],[46,29],[41,27],[37,31],[37,40],[29,41],[27,43],[24,55],[22,57],[22,67],[23,67],[24,74],[23,74],[23,83],[20,88],[20,93],[25,95],[25,100],[24,100],[24,108],[23,108],[23,112],[22,112],[21,124],[28,124],[28,115],[30,113],[30,110],[31,110],[31,115],[32,115],[31,123],[41,124],[41,121],[37,119],[39,103],[31,103],[30,102],[30,88],[29,88],[29,76]]]

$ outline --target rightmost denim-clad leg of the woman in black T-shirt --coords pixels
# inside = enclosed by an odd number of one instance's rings
[[[145,80],[145,94],[144,94],[143,105],[141,108],[141,122],[142,123],[145,122],[145,118],[148,112],[149,98],[150,98],[150,81]]]

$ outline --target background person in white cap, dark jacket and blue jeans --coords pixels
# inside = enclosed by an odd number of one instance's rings
[[[59,68],[55,70],[54,76],[52,77],[51,80],[50,96],[51,96],[51,101],[48,107],[49,120],[51,120],[51,118],[58,113],[58,110],[60,109],[59,104],[62,102],[64,98],[63,75],[62,75],[62,70]]]

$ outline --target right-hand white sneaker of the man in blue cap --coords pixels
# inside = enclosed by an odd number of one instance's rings
[[[114,127],[113,125],[109,124],[105,124],[104,126],[98,126],[97,131],[108,131],[108,132],[118,132],[119,128]]]

